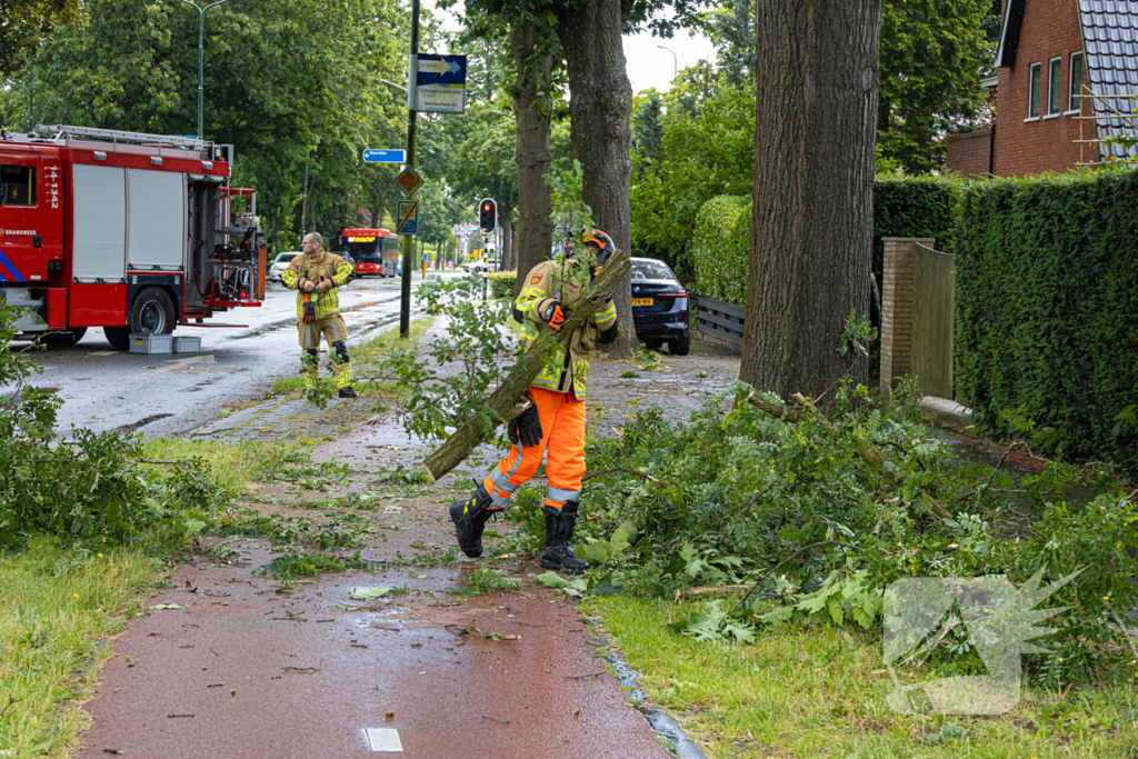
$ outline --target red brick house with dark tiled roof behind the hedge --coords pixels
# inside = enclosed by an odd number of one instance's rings
[[[1063,172],[1097,164],[1100,151],[1124,155],[1102,140],[1138,133],[1138,0],[1004,0],[996,66],[982,83],[996,123],[948,138],[949,171]],[[1118,114],[1128,118],[1110,118]]]

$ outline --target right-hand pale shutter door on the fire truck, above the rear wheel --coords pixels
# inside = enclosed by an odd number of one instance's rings
[[[185,179],[179,172],[126,170],[126,263],[181,269],[185,247]]]

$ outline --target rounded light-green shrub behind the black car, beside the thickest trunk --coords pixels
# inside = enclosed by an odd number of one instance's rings
[[[736,195],[711,198],[700,208],[692,233],[695,289],[700,295],[747,304],[750,269],[751,199]]]

